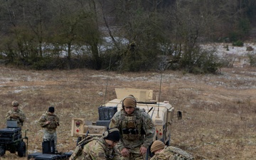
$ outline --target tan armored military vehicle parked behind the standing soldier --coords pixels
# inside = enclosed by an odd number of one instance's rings
[[[109,126],[110,119],[114,113],[122,110],[122,100],[124,97],[134,95],[137,99],[137,107],[143,108],[154,122],[156,136],[153,140],[158,139],[164,142],[164,144],[169,145],[171,139],[171,122],[174,117],[174,107],[169,104],[169,101],[158,102],[158,100],[153,100],[153,90],[116,88],[115,92],[117,99],[110,100],[110,102],[98,108],[99,119],[97,122],[87,122],[85,118],[72,119],[72,137],[80,137],[81,140],[86,135],[101,136]],[[177,115],[178,119],[181,119],[181,112],[178,112]]]

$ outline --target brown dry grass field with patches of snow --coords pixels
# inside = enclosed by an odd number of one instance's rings
[[[0,127],[11,101],[26,113],[28,154],[41,151],[42,129],[37,120],[49,106],[60,117],[58,151],[75,148],[70,137],[72,117],[97,120],[97,107],[114,99],[114,88],[154,90],[154,97],[169,100],[183,119],[174,119],[171,145],[196,159],[256,159],[256,70],[223,68],[220,75],[114,73],[95,70],[20,70],[0,65]],[[106,92],[107,88],[107,92]],[[106,96],[105,96],[105,93]],[[105,98],[106,97],[106,98]],[[106,99],[106,100],[105,100]],[[1,159],[18,158],[16,154]]]

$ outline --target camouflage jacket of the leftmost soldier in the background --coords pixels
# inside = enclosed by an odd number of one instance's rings
[[[6,120],[16,120],[18,127],[23,126],[23,122],[25,121],[26,116],[22,110],[9,110],[9,112],[6,113]]]

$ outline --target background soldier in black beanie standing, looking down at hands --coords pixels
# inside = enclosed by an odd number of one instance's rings
[[[57,152],[57,132],[56,129],[60,125],[60,120],[54,114],[54,107],[49,107],[48,111],[38,120],[41,127],[43,127],[43,141],[54,140],[55,151]]]

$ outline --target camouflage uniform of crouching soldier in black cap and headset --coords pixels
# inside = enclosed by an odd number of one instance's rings
[[[71,157],[70,157],[71,158]],[[105,139],[93,138],[91,142],[85,144],[82,154],[74,160],[119,160],[120,156],[116,149],[107,147]],[[71,160],[71,159],[70,159]],[[73,160],[73,159],[72,159]]]

